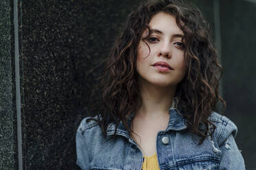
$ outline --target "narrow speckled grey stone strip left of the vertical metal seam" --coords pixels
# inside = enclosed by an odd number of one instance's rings
[[[12,4],[12,3],[11,3]],[[0,169],[17,169],[17,128],[13,97],[12,8],[0,1]],[[14,100],[15,101],[15,100]]]

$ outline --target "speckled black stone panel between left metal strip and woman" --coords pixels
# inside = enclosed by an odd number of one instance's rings
[[[75,134],[94,97],[97,66],[136,4],[22,2],[24,169],[77,169]]]

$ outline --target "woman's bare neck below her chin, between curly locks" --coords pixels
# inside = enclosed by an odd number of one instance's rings
[[[142,106],[136,113],[138,117],[156,119],[169,114],[169,107],[175,95],[176,86],[156,86],[140,80]]]

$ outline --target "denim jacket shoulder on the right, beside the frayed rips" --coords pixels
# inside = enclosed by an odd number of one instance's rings
[[[237,135],[237,126],[227,117],[218,114],[217,112],[212,112],[209,121],[216,126],[213,135],[219,145],[222,145],[231,134],[234,138]]]

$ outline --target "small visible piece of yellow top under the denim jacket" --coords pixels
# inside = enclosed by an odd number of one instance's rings
[[[144,162],[142,170],[160,170],[158,165],[158,156],[153,154],[152,156],[143,156]]]

